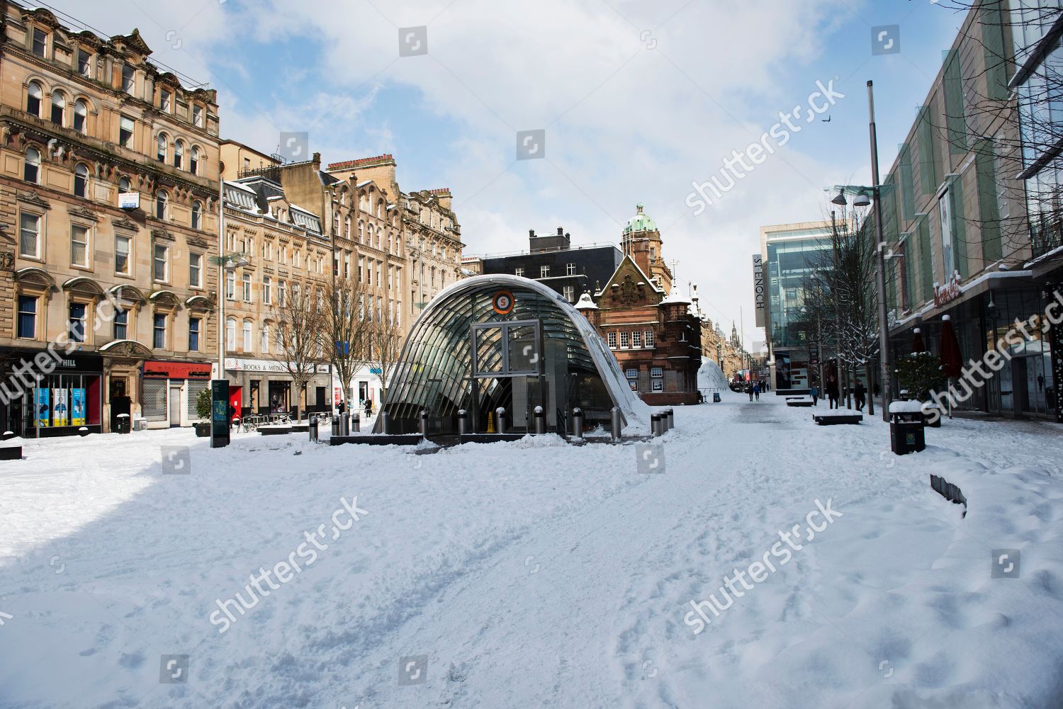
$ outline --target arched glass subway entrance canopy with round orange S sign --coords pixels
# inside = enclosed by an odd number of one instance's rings
[[[593,326],[549,286],[514,275],[478,275],[441,291],[425,307],[403,348],[387,389],[389,433],[456,433],[458,411],[470,433],[534,425],[542,406],[549,429],[566,428],[573,407],[589,424],[607,422],[613,406],[625,426],[645,427],[649,408],[630,390],[617,359]],[[379,433],[379,421],[377,433]]]

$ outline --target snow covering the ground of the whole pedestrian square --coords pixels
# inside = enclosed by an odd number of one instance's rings
[[[1061,706],[1060,429],[896,457],[816,410],[724,392],[659,449],[28,441],[0,707]]]

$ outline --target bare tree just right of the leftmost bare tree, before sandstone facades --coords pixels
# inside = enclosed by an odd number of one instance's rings
[[[328,360],[342,385],[343,402],[350,409],[351,381],[370,361],[369,343],[374,323],[366,317],[366,308],[372,296],[356,281],[336,278],[325,287],[325,301],[328,303],[324,323]]]

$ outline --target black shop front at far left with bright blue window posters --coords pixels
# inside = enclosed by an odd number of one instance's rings
[[[82,427],[89,433],[102,432],[103,358],[99,354],[60,352],[53,357],[47,350],[16,350],[12,354],[16,361],[48,360],[54,368],[32,387],[16,389],[15,379],[9,383],[12,395],[4,396],[3,431],[23,437],[70,436]],[[33,384],[29,376],[27,379]]]

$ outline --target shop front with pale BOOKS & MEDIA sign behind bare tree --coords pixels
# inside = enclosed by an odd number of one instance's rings
[[[273,359],[225,357],[225,376],[229,378],[233,406],[241,417],[248,413],[279,413],[296,408],[291,374],[282,362]],[[303,396],[298,400],[300,410],[332,410],[331,388],[328,365],[316,365],[314,376],[307,382]]]

